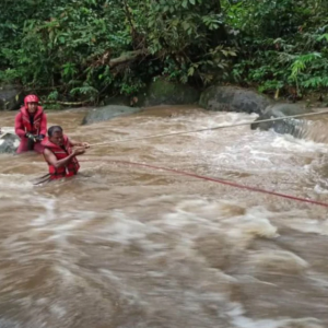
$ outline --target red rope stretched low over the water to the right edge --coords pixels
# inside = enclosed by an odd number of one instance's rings
[[[80,162],[89,162],[89,160],[80,161]],[[94,162],[94,160],[91,160],[90,162]],[[257,191],[257,192],[279,196],[279,197],[283,197],[283,198],[288,198],[288,199],[292,199],[292,200],[308,202],[308,203],[313,203],[313,204],[317,204],[317,206],[328,208],[328,203],[325,203],[325,202],[321,202],[321,201],[316,201],[316,200],[312,200],[312,199],[306,199],[306,198],[290,196],[290,195],[285,195],[285,194],[269,191],[269,190],[260,189],[260,188],[257,188],[257,187],[249,187],[249,186],[245,186],[245,185],[239,185],[239,184],[236,184],[236,183],[231,183],[231,181],[226,181],[226,180],[223,180],[223,179],[218,179],[218,178],[212,178],[212,177],[209,177],[209,176],[198,175],[198,174],[189,173],[189,172],[185,172],[185,171],[179,171],[179,169],[174,169],[174,168],[166,168],[166,167],[162,167],[162,166],[155,166],[155,165],[136,163],[136,162],[129,162],[129,161],[108,161],[108,162],[126,164],[126,165],[150,167],[150,168],[162,169],[162,171],[166,171],[166,172],[173,172],[173,173],[176,173],[176,174],[180,174],[180,175],[185,175],[185,176],[191,176],[191,177],[195,177],[195,178],[199,178],[199,179],[203,179],[203,180],[208,180],[208,181],[213,181],[213,183],[218,183],[218,184],[222,184],[222,185],[227,185],[227,186],[231,186],[231,187],[236,187],[236,188],[241,188],[241,189],[247,189],[247,190],[250,190],[250,191]]]

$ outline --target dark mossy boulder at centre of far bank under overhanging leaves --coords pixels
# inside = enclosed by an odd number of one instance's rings
[[[185,84],[156,80],[136,97],[138,106],[187,105],[199,101],[200,93]]]

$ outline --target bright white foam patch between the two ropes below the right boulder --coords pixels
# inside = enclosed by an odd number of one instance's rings
[[[216,142],[218,136],[214,134],[214,131],[211,138]],[[165,145],[161,145],[161,148],[163,152],[169,152]],[[214,167],[230,167],[237,172],[251,172],[254,174],[261,172],[270,174],[272,169],[290,173],[290,161],[282,161],[282,157],[286,160],[295,156],[295,154],[302,157],[302,154],[327,153],[324,143],[300,140],[291,136],[280,136],[272,131],[242,133],[237,141],[234,140],[231,145],[226,145],[219,152],[211,152],[208,144],[204,147],[187,144],[185,149],[188,149],[188,153],[194,153],[195,157],[203,159],[203,162],[212,169]]]

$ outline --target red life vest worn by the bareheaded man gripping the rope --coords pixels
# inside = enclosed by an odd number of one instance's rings
[[[69,141],[68,137],[65,134],[63,134],[63,145],[62,147],[52,143],[48,138],[43,140],[42,144],[45,149],[50,150],[55,154],[55,156],[58,161],[66,159],[68,155],[70,155],[72,153],[70,141]],[[77,160],[77,157],[73,157],[65,166],[60,166],[57,168],[54,165],[51,165],[50,163],[48,163],[48,165],[49,165],[50,179],[59,179],[59,178],[63,178],[63,177],[73,176],[73,175],[78,174],[78,171],[80,168],[80,164],[79,164],[79,161]]]

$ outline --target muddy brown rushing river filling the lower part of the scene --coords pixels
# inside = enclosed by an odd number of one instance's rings
[[[86,110],[48,126],[98,143],[256,118],[160,106],[81,126]],[[79,176],[39,186],[42,155],[1,154],[0,327],[328,327],[328,208],[112,162],[328,203],[320,125],[317,138],[241,126],[94,147]]]

